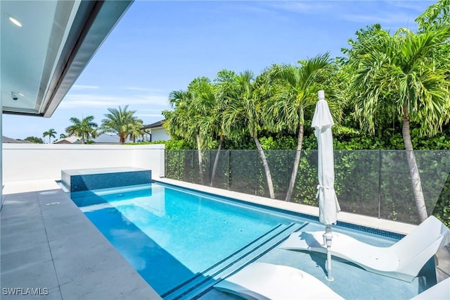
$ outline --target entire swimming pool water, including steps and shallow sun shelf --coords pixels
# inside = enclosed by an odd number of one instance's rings
[[[345,299],[410,299],[435,284],[431,260],[413,282],[403,282],[335,258],[335,281],[328,282],[325,256],[277,247],[295,230],[323,230],[312,217],[158,182],[77,192],[71,198],[165,299],[205,292],[203,299],[221,299],[224,293],[212,289],[215,280],[255,260],[300,268]],[[397,240],[348,227],[333,230],[376,246]]]

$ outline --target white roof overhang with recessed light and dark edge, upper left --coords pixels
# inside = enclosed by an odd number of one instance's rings
[[[3,112],[50,117],[132,1],[1,0]]]

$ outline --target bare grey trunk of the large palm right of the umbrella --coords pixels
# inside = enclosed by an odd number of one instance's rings
[[[414,201],[419,215],[420,222],[428,218],[427,208],[425,206],[425,199],[423,198],[422,182],[420,181],[419,169],[417,167],[416,155],[413,150],[413,143],[411,142],[411,135],[409,132],[409,116],[403,116],[403,128],[401,129],[403,141],[406,149],[406,156],[408,158],[409,174],[411,175],[411,182],[413,183]]]

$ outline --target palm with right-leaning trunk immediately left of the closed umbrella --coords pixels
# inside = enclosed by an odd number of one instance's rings
[[[285,201],[290,201],[297,179],[304,135],[304,110],[316,104],[319,75],[330,67],[330,59],[328,54],[324,54],[299,63],[299,67],[283,65],[273,68],[271,80],[281,82],[282,86],[266,102],[264,113],[271,127],[278,126],[297,133],[297,151]]]

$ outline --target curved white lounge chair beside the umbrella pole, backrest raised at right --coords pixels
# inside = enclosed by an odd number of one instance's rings
[[[279,247],[326,253],[322,236],[323,231],[293,232]],[[388,247],[373,246],[333,232],[331,254],[370,272],[411,282],[437,250],[449,243],[449,228],[430,216],[409,235]]]

